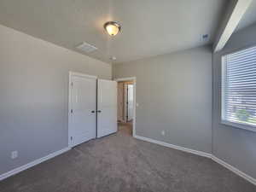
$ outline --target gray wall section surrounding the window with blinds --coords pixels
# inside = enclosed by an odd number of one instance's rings
[[[242,172],[256,177],[256,133],[221,125],[221,55],[256,45],[256,25],[232,35],[221,52],[212,57],[213,66],[213,112],[212,112],[212,153]]]

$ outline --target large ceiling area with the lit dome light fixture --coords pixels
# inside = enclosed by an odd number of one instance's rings
[[[67,49],[85,41],[102,61],[137,60],[211,44],[225,0],[0,0],[0,23]],[[109,37],[108,20],[122,31]],[[208,33],[208,42],[201,35]]]

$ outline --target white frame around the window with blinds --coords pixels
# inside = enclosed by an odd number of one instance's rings
[[[229,125],[232,126],[234,128],[238,128],[238,129],[242,129],[242,130],[247,130],[247,131],[253,131],[256,132],[256,125],[247,125],[245,123],[236,123],[236,122],[232,122],[229,120],[224,119],[224,114],[225,114],[225,102],[224,102],[224,82],[225,82],[225,77],[226,77],[226,62],[224,61],[224,58],[226,55],[231,55],[234,53],[237,53],[241,50],[245,50],[245,49],[250,49],[256,47],[256,44],[247,46],[247,47],[243,47],[241,49],[235,49],[233,51],[230,52],[226,52],[221,56],[221,86],[220,86],[220,99],[221,99],[221,110],[220,110],[220,124],[221,125]]]

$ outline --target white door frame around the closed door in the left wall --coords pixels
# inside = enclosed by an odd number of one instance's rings
[[[68,79],[68,111],[67,111],[67,116],[68,116],[68,133],[67,133],[67,142],[68,142],[68,147],[69,148],[73,148],[73,145],[71,143],[71,109],[72,109],[72,106],[71,106],[71,103],[72,103],[72,77],[73,76],[78,76],[78,77],[81,77],[81,78],[90,78],[90,79],[97,79],[96,76],[94,75],[88,75],[88,74],[84,74],[84,73],[77,73],[77,72],[72,72],[72,71],[69,71],[69,79]]]

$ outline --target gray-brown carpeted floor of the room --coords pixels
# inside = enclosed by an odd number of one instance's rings
[[[131,137],[131,125],[0,182],[1,192],[255,192],[212,160]]]

